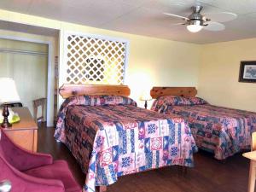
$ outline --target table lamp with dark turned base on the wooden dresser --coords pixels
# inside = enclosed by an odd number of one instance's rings
[[[15,81],[10,78],[0,78],[0,103],[3,104],[3,123],[1,127],[10,128],[12,125],[9,123],[9,102],[20,102]]]

